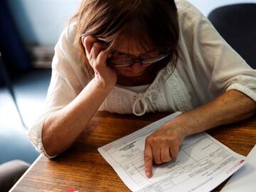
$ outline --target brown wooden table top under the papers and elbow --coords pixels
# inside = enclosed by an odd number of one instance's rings
[[[134,115],[98,112],[75,144],[55,159],[39,156],[11,191],[129,191],[97,148],[124,137],[167,114]],[[238,154],[256,144],[256,117],[208,131]],[[215,191],[220,191],[223,184]]]

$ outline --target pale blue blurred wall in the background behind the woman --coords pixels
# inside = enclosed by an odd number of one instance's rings
[[[12,14],[26,43],[52,46],[81,0],[9,0]],[[256,0],[188,0],[206,16],[218,6]]]

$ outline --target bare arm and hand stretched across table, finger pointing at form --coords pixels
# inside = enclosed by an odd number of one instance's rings
[[[237,90],[229,90],[206,105],[178,115],[146,138],[146,176],[151,177],[153,161],[161,164],[178,156],[179,146],[186,136],[246,119],[255,110],[256,103],[250,97]]]

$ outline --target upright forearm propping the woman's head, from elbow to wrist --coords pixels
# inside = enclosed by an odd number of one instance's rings
[[[46,119],[42,140],[48,155],[60,154],[73,144],[111,89],[92,80],[73,102]]]

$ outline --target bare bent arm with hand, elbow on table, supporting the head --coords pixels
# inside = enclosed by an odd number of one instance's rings
[[[62,110],[51,114],[43,125],[42,142],[50,156],[73,144],[117,82],[117,74],[106,65],[108,53],[92,36],[82,37],[95,78]]]

